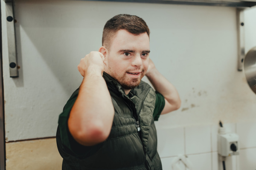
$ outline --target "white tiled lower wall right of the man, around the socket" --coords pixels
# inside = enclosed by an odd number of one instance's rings
[[[256,170],[256,122],[223,125],[239,135],[239,155],[226,158],[226,170]],[[163,170],[223,170],[218,157],[218,125],[158,128],[158,153]],[[186,167],[178,156],[186,158]],[[174,163],[176,162],[176,164]],[[176,169],[172,168],[176,165]]]

